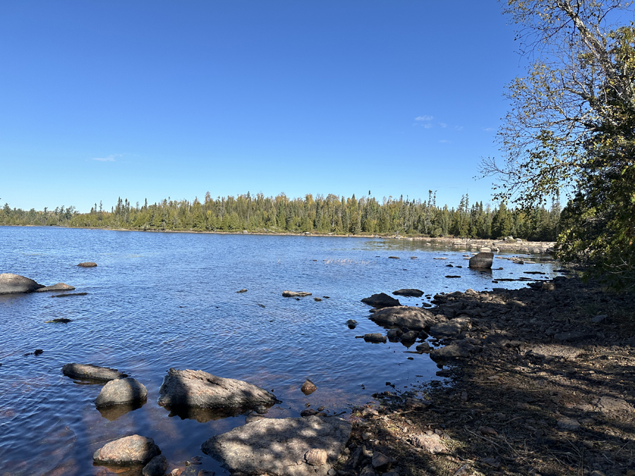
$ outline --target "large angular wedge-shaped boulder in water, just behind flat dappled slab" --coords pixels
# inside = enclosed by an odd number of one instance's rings
[[[276,403],[273,393],[242,380],[202,370],[168,370],[159,389],[159,405],[197,408],[256,408]]]

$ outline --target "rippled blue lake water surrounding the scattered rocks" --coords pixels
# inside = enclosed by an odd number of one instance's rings
[[[170,367],[273,389],[282,401],[267,415],[274,417],[299,416],[306,403],[339,413],[372,400],[386,382],[404,389],[440,379],[428,355],[404,353],[401,343],[355,338],[385,332],[368,320],[370,307],[360,300],[399,288],[428,295],[519,288],[525,283],[492,279],[536,270],[543,271],[539,278],[555,275],[552,264],[507,260],[495,260],[503,270],[480,273],[468,269],[466,254],[375,238],[0,226],[0,273],[47,286],[63,281],[75,286],[73,292],[87,293],[0,295],[0,476],[107,474],[92,465],[92,453],[135,433],[154,439],[169,463],[201,456],[197,472],[226,474],[199,446],[243,425],[245,415],[208,422],[170,416],[157,405]],[[98,267],[76,266],[85,261]],[[248,292],[236,293],[241,288]],[[283,298],[286,289],[313,296]],[[313,300],[323,296],[329,298]],[[59,317],[72,322],[44,323]],[[356,319],[358,327],[346,327],[347,319]],[[44,353],[25,355],[36,349]],[[130,374],[147,387],[147,403],[123,415],[102,415],[93,403],[101,386],[63,376],[68,362]],[[310,396],[300,391],[307,378],[317,385]]]

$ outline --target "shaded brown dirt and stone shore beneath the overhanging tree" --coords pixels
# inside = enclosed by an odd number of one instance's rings
[[[532,286],[435,296],[433,312],[471,319],[437,343],[469,356],[354,408],[339,476],[635,476],[634,294]]]

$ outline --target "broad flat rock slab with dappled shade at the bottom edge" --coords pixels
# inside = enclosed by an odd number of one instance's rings
[[[266,418],[212,437],[200,448],[230,472],[326,476],[350,436],[351,424],[337,417]],[[324,460],[315,450],[326,452],[324,464],[315,464]]]

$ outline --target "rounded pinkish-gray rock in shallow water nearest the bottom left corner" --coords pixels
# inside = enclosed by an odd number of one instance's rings
[[[133,434],[105,444],[95,451],[92,459],[99,465],[146,465],[161,450],[152,438]]]

